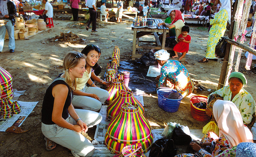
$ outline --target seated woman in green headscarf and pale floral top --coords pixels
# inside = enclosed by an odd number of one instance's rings
[[[206,114],[214,120],[213,105],[217,99],[224,99],[233,102],[240,110],[244,124],[249,128],[255,123],[255,101],[251,94],[243,87],[247,84],[247,80],[241,72],[232,72],[229,76],[229,86],[225,86],[208,96]]]

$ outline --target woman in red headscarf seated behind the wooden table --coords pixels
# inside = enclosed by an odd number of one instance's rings
[[[181,15],[180,10],[174,10],[172,13],[172,18],[174,19],[171,24],[168,23],[158,23],[158,26],[166,26],[169,29],[175,28],[176,38],[166,36],[166,45],[167,47],[173,48],[178,43],[178,36],[181,34],[181,29],[184,25],[184,20]],[[160,40],[162,42],[162,40]]]

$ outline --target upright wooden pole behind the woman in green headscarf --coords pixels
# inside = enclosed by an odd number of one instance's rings
[[[235,1],[235,7],[234,7],[234,10],[233,10],[233,16],[231,17],[231,26],[230,26],[229,35],[228,35],[228,37],[230,39],[232,39],[233,32],[234,32],[234,25],[235,25],[234,17],[235,17],[237,6],[238,6],[238,0]],[[225,52],[224,60],[223,60],[223,63],[222,63],[222,70],[220,71],[220,78],[219,78],[219,84],[218,84],[218,88],[217,89],[220,89],[220,88],[222,88],[224,86],[225,77],[226,77],[227,68],[228,68],[230,48],[231,48],[231,44],[227,43],[226,52]]]

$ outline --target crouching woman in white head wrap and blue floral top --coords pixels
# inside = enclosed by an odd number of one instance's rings
[[[188,71],[177,60],[168,60],[170,54],[166,50],[159,50],[154,54],[155,59],[161,65],[161,73],[156,77],[159,83],[156,87],[169,87],[177,90],[183,97],[188,96],[194,90]]]

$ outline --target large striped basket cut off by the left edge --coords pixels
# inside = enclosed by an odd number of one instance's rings
[[[0,104],[4,101],[5,98],[13,98],[12,90],[12,76],[11,74],[0,67]]]

